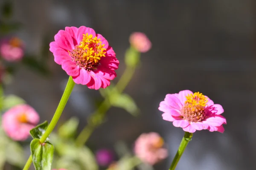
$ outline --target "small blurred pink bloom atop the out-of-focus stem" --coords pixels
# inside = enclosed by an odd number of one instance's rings
[[[134,32],[130,36],[131,45],[141,53],[145,53],[151,48],[151,42],[142,32]]]

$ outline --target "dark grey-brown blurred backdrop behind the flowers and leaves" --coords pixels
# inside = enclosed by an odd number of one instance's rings
[[[176,169],[256,169],[255,0],[16,0],[13,5],[13,20],[22,23],[17,36],[35,56],[65,26],[87,26],[102,34],[120,61],[113,82],[124,71],[130,34],[141,31],[151,40],[151,50],[142,54],[125,89],[140,115],[111,108],[89,146],[113,148],[114,142],[122,140],[132,148],[141,133],[158,132],[169,157],[155,169],[168,169],[184,132],[164,121],[158,106],[166,94],[189,89],[221,104],[227,125],[223,134],[197,131]],[[41,122],[52,118],[68,79],[52,53],[45,54],[51,74],[40,76],[20,66],[15,81],[6,88],[6,94],[32,105]],[[99,91],[76,85],[60,123],[78,116],[80,131],[96,109],[95,102],[101,100]]]

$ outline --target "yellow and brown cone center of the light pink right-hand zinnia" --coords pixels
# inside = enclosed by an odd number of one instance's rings
[[[201,122],[205,119],[205,106],[207,97],[196,92],[186,96],[185,104],[181,109],[181,117],[189,122]]]

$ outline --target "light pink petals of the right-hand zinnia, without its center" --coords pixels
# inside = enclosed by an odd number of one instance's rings
[[[201,122],[189,122],[183,119],[182,108],[186,101],[186,96],[193,94],[192,91],[185,90],[180,91],[178,94],[167,94],[164,101],[160,102],[159,110],[163,111],[163,119],[173,122],[175,127],[182,127],[184,131],[194,133],[196,130],[208,129],[209,131],[218,131],[223,133],[223,124],[227,124],[226,119],[220,114],[224,112],[224,109],[219,104],[208,99],[205,106],[205,118]]]

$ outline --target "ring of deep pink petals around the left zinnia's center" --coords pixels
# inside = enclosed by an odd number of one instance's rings
[[[81,67],[71,56],[75,46],[80,44],[86,34],[92,34],[93,37],[100,38],[104,48],[106,48],[105,57],[101,57],[99,65],[89,70]],[[54,61],[61,65],[69,76],[73,77],[76,84],[87,85],[88,88],[98,90],[99,88],[108,87],[110,80],[116,77],[115,70],[119,66],[116,54],[113,48],[108,45],[108,41],[101,34],[96,34],[92,28],[85,26],[79,28],[66,27],[65,31],[58,31],[54,40],[50,43],[50,51],[54,55]]]

